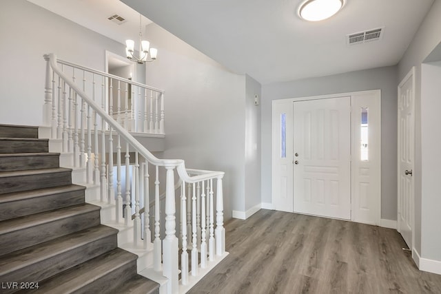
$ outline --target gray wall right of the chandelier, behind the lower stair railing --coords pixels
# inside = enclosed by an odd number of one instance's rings
[[[156,24],[147,26],[158,60],[147,83],[165,90],[164,158],[225,171],[225,219],[245,210],[245,76],[234,74]]]

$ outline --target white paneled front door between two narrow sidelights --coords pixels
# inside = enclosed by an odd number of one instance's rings
[[[351,219],[351,98],[294,102],[293,206]]]

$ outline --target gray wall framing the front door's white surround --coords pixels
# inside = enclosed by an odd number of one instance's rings
[[[397,85],[396,67],[262,86],[262,202],[271,203],[271,101],[365,90],[381,90],[381,218],[397,219]]]

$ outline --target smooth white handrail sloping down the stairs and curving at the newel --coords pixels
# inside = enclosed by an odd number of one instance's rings
[[[176,171],[178,171],[179,177],[184,180],[185,182],[200,182],[201,180],[209,180],[210,178],[218,178],[225,175],[225,172],[223,171],[212,171],[207,172],[203,174],[199,174],[198,176],[189,176],[187,173],[187,170],[185,169],[185,162],[181,159],[159,159],[156,158],[150,151],[148,151],[141,143],[139,143],[138,140],[134,138],[129,132],[127,132],[119,123],[116,122],[107,112],[105,112],[100,105],[95,103],[92,99],[88,97],[81,88],[70,81],[70,78],[64,74],[61,70],[59,70],[59,67],[57,66],[57,56],[55,56],[53,53],[51,54],[45,54],[44,55],[45,60],[47,61],[49,59],[50,61],[50,67],[52,67],[52,70],[56,72],[59,76],[63,78],[65,83],[67,83],[81,98],[84,99],[94,109],[94,111],[101,116],[105,120],[106,123],[110,125],[116,131],[122,138],[124,138],[132,147],[134,147],[139,153],[147,158],[153,165],[158,165],[161,167],[176,167]]]

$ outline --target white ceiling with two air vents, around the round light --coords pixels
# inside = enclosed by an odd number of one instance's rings
[[[139,14],[118,0],[28,1],[121,43],[129,34],[136,39]],[[396,65],[433,3],[345,0],[334,17],[309,23],[297,15],[302,0],[122,1],[218,63],[262,84]],[[107,21],[114,13],[129,21]],[[347,34],[382,27],[380,41],[346,44]]]

